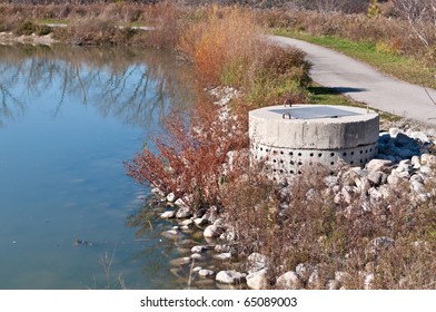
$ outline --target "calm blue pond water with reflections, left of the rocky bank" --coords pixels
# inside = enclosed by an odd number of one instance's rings
[[[186,287],[123,162],[192,81],[161,51],[0,47],[0,289]]]

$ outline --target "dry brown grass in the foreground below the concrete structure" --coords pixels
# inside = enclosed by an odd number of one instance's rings
[[[369,204],[361,196],[350,205],[335,203],[324,183],[326,175],[320,167],[306,168],[288,193],[281,193],[255,170],[229,188],[225,216],[238,235],[241,259],[252,252],[265,254],[272,286],[276,276],[304,263],[319,273],[318,284],[304,281],[309,289],[327,287],[335,272],[343,272],[346,289],[363,289],[365,274],[370,273],[374,289],[435,289],[434,204],[410,204],[408,185]],[[375,252],[377,237],[395,243]]]

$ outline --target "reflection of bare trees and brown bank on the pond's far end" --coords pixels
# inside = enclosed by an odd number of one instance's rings
[[[191,75],[172,55],[159,50],[1,46],[0,126],[22,116],[31,105],[13,94],[16,86],[38,96],[56,81],[60,89],[50,104],[54,117],[68,96],[97,107],[103,116],[147,127],[169,110],[192,103]]]

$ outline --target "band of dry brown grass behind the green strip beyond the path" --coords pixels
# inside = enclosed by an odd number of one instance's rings
[[[425,58],[428,65],[434,65],[433,46],[422,45],[406,20],[392,16],[369,18],[366,14],[340,12],[325,14],[315,11],[265,10],[259,12],[258,21],[270,28],[287,28],[313,36],[335,36],[358,42],[378,43],[385,51]],[[429,32],[432,25],[427,28]],[[436,42],[434,31],[428,38]]]

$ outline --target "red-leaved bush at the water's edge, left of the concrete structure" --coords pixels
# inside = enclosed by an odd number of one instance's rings
[[[127,164],[128,175],[184,197],[192,208],[220,204],[222,186],[247,164],[240,153],[248,147],[246,125],[212,105],[189,116],[176,113],[165,124],[167,134],[153,139],[157,153],[143,149]]]

